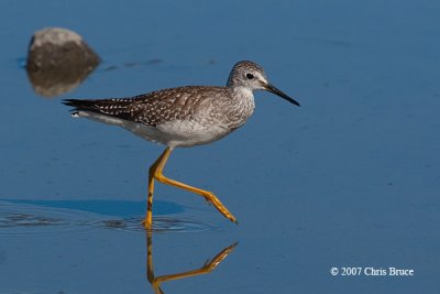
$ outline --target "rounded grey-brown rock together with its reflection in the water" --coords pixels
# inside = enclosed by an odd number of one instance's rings
[[[26,70],[38,95],[54,97],[77,87],[99,63],[99,56],[79,34],[46,28],[31,40]]]

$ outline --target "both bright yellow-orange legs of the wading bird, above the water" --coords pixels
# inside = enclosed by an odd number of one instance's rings
[[[152,208],[153,208],[154,179],[157,179],[158,182],[161,182],[163,184],[175,186],[175,187],[178,187],[178,188],[183,188],[183,189],[196,193],[196,194],[205,197],[226,218],[230,219],[233,222],[237,222],[237,218],[228,210],[228,208],[226,208],[221,204],[221,202],[211,192],[186,185],[184,183],[167,178],[166,176],[163,175],[162,171],[164,170],[166,161],[168,160],[169,154],[172,153],[172,151],[173,150],[169,149],[169,148],[165,149],[165,151],[162,153],[162,155],[150,167],[150,173],[148,173],[148,198],[147,198],[146,216],[145,216],[145,220],[143,221],[145,228],[150,229],[152,227],[152,222],[153,222],[152,221],[152,217],[153,217]]]

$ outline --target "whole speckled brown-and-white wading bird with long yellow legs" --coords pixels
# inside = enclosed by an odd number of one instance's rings
[[[74,117],[85,117],[122,127],[148,141],[167,148],[150,167],[145,228],[152,227],[154,181],[196,193],[210,202],[233,222],[237,218],[211,192],[189,186],[163,175],[170,152],[217,141],[240,128],[255,108],[254,90],[271,91],[287,101],[297,101],[268,83],[264,69],[252,62],[239,62],[226,87],[187,86],[143,94],[130,98],[67,99]]]

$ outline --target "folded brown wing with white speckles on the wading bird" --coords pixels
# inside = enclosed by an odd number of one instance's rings
[[[215,98],[216,92],[221,95],[223,89],[211,87],[211,90],[213,90],[213,95],[208,97],[206,96],[206,87],[188,86],[153,91],[130,98],[66,99],[64,104],[74,107],[74,111],[91,111],[156,127],[170,120],[190,120],[200,107],[208,102],[210,97]]]

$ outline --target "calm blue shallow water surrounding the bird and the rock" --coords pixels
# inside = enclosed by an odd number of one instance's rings
[[[440,292],[438,1],[0,9],[0,293],[154,293],[170,279],[165,293]],[[31,35],[50,25],[103,59],[51,99],[24,69]],[[301,108],[257,92],[241,130],[176,150],[165,171],[215,192],[240,225],[157,185],[146,232],[146,173],[163,148],[73,119],[59,99],[223,85],[240,59]],[[415,274],[364,273],[392,266]]]

